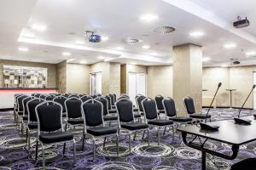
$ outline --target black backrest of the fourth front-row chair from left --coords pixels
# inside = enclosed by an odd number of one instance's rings
[[[153,99],[143,99],[143,112],[147,119],[152,120],[157,118],[157,106]]]

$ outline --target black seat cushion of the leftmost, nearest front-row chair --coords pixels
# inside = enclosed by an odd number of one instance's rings
[[[56,142],[64,142],[73,139],[73,133],[55,132],[55,133],[41,133],[39,139],[44,144],[52,144]]]

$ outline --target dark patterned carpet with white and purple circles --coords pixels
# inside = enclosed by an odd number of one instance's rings
[[[204,110],[205,111],[205,110]],[[212,120],[231,119],[237,115],[234,109],[212,109]],[[255,111],[242,111],[242,115],[253,115]],[[71,129],[70,129],[71,130]],[[62,145],[49,145],[46,150],[48,169],[152,169],[152,170],[197,170],[201,169],[201,152],[193,150],[183,144],[179,135],[172,136],[172,130],[165,136],[160,135],[160,145],[157,145],[156,130],[150,131],[150,147],[142,140],[142,133],[137,134],[132,141],[131,153],[128,152],[128,139],[125,136],[119,138],[120,156],[115,157],[115,139],[108,139],[106,147],[102,147],[102,139],[97,141],[96,162],[92,161],[92,144],[86,139],[84,151],[81,150],[81,127],[73,130],[77,141],[77,161],[73,165],[73,144],[67,144],[66,155],[63,157]],[[34,136],[36,136],[34,133]],[[32,138],[35,141],[35,138]],[[41,155],[39,150],[39,161],[35,159],[35,142],[29,153],[26,150],[25,135],[14,123],[13,112],[0,112],[0,170],[2,169],[42,169]],[[217,142],[207,142],[207,147],[230,153],[230,145]],[[230,165],[248,157],[256,156],[256,142],[243,145],[235,160],[227,161],[207,155],[207,169],[230,169]],[[217,167],[216,167],[217,166]]]

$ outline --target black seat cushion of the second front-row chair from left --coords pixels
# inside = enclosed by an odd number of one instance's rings
[[[90,133],[94,136],[102,136],[117,133],[116,127],[90,127],[87,128],[87,133]]]

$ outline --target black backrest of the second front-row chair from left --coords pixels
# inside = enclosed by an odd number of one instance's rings
[[[92,101],[93,103],[91,103]],[[96,127],[103,124],[103,108],[100,102],[93,99],[87,100],[82,105],[82,111],[86,126]]]

